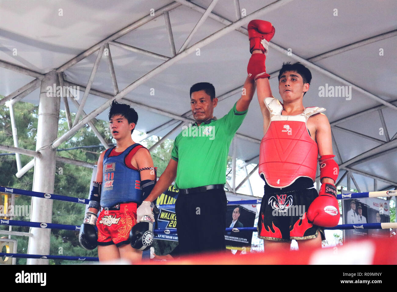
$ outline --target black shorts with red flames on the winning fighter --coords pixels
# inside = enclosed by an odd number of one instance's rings
[[[283,189],[264,187],[258,219],[258,237],[266,240],[290,242],[316,238],[322,227],[308,222],[306,211],[318,193],[310,178],[298,178]]]

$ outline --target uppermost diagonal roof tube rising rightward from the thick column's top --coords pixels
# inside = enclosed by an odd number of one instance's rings
[[[152,16],[152,15],[148,14],[145,17],[139,19],[138,21],[135,21],[134,23],[131,23],[127,27],[124,27],[123,29],[120,29],[118,32],[114,33],[110,37],[107,37],[106,39],[100,41],[99,43],[94,44],[88,50],[82,52],[78,56],[76,56],[73,59],[69,60],[64,65],[62,65],[60,68],[58,68],[56,70],[56,72],[63,72],[65,70],[67,70],[68,68],[70,68],[74,64],[77,64],[79,61],[83,60],[85,57],[87,57],[87,56],[91,55],[93,52],[99,50],[99,48],[102,45],[109,43],[109,41],[114,41],[115,39],[118,39],[119,37],[122,37],[123,35],[129,33],[130,31],[133,31],[137,27],[140,27],[140,26],[144,25],[145,23],[148,23],[149,21],[153,20],[154,18],[160,16],[165,11],[173,10],[173,9],[179,7],[179,6],[181,6],[181,4],[179,4],[177,2],[172,2],[171,4],[163,6],[162,8],[156,10],[155,16]],[[0,64],[0,66],[1,66],[1,64]]]

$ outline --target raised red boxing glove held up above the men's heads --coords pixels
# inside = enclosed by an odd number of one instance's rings
[[[262,39],[270,41],[274,36],[275,29],[272,23],[270,23],[269,21],[254,19],[248,23],[247,28],[250,42],[249,51],[251,52],[251,54],[253,50],[261,50],[262,53],[264,53],[265,49],[260,41],[262,41]]]

